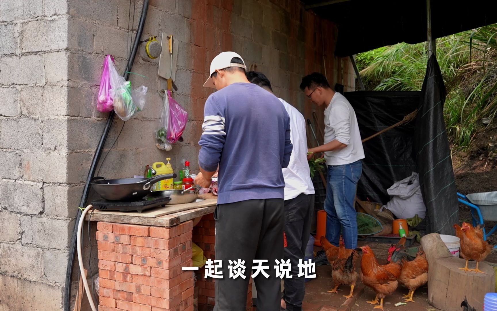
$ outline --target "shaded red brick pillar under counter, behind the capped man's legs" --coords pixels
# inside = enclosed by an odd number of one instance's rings
[[[215,259],[214,243],[216,234],[214,228],[216,221],[214,214],[202,217],[202,220],[193,227],[193,243],[197,244],[204,251],[207,259]],[[224,263],[223,263],[224,264]],[[205,269],[201,268],[196,273],[197,281],[195,287],[198,288],[198,311],[212,311],[214,309],[214,282],[213,278],[205,278]],[[228,277],[228,276],[225,276]],[[252,309],[252,278],[250,278],[247,292],[247,308]]]

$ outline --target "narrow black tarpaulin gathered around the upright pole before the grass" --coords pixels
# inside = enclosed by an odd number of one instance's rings
[[[428,60],[416,116],[414,159],[428,212],[428,233],[453,234],[459,220],[457,190],[443,119],[445,86],[434,55]]]

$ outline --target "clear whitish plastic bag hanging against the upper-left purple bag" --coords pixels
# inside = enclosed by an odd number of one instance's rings
[[[113,100],[114,111],[122,120],[127,121],[145,107],[147,88],[141,86],[131,89],[131,81],[124,80],[116,70],[114,63],[109,61],[110,96]]]

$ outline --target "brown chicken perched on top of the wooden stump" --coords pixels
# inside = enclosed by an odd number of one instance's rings
[[[463,225],[461,226],[463,234],[462,237],[460,237],[459,235],[461,235],[461,232],[457,227],[457,225],[454,225],[454,228],[456,228],[456,235],[461,239],[461,256],[466,260],[466,266],[459,269],[466,272],[474,271],[475,273],[484,273],[478,269],[478,264],[480,261],[487,258],[492,251],[492,247],[483,239],[483,229],[480,227],[475,228],[471,224],[463,222]],[[476,260],[476,269],[468,269],[469,260]]]

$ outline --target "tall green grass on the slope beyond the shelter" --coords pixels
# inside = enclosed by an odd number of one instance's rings
[[[436,56],[447,88],[444,106],[449,138],[468,147],[483,118],[497,113],[497,24],[437,39]],[[382,47],[356,58],[367,90],[418,91],[427,44]]]

